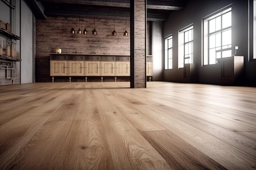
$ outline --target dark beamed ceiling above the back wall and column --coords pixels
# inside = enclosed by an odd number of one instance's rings
[[[37,18],[47,16],[130,18],[130,0],[27,0]],[[186,0],[147,0],[147,20],[164,21]]]

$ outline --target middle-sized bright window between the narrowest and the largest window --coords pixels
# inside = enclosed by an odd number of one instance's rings
[[[178,68],[183,68],[184,64],[193,63],[193,26],[179,30],[178,41]]]

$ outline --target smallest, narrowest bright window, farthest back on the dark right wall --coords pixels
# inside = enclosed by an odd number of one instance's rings
[[[173,68],[173,36],[164,39],[164,69]]]

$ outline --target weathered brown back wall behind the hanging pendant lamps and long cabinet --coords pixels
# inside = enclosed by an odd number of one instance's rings
[[[125,20],[115,19],[117,36],[112,36],[113,19],[95,18],[97,35],[92,34],[94,18],[80,18],[80,29],[83,31],[86,28],[87,35],[70,34],[72,27],[75,32],[79,29],[79,18],[47,17],[47,20],[36,20],[36,81],[52,81],[49,53],[54,53],[55,48],[61,48],[63,53],[130,55],[130,22],[127,21],[126,37],[123,36]]]

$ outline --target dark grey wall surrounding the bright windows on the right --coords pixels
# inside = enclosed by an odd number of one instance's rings
[[[184,82],[183,68],[178,69],[178,31],[189,24],[194,29],[194,63],[198,83],[220,84],[220,64],[202,66],[202,18],[231,4],[232,54],[244,56],[245,82],[256,78],[256,62],[248,62],[248,2],[247,0],[190,0],[182,11],[173,11],[163,23],[163,37],[173,34],[173,69],[164,70],[164,81]],[[251,79],[251,80],[250,80]]]

